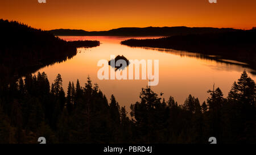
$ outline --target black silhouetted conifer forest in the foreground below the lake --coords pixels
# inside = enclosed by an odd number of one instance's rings
[[[0,143],[256,143],[253,79],[246,72],[228,97],[209,90],[207,102],[189,95],[178,105],[161,99],[149,87],[131,104],[131,118],[114,95],[110,102],[97,84],[69,82],[60,74],[49,85],[47,75],[27,74],[0,89]],[[171,89],[171,88],[170,88]]]

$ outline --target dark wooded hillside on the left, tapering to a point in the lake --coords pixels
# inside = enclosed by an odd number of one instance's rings
[[[0,19],[0,83],[32,73],[76,55],[77,47],[96,47],[99,41],[65,41],[51,33]]]

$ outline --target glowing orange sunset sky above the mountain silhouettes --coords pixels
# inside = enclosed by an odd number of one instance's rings
[[[256,27],[256,0],[1,0],[0,18],[35,28]]]

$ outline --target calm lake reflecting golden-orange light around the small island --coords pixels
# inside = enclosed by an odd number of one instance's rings
[[[156,36],[154,36],[156,37]],[[84,87],[87,77],[97,83],[108,100],[114,94],[120,106],[126,106],[130,111],[130,104],[139,101],[142,87],[146,87],[148,79],[139,80],[100,80],[97,72],[99,60],[110,60],[110,55],[123,55],[128,60],[159,60],[159,83],[151,86],[155,93],[164,93],[162,98],[168,100],[170,95],[178,104],[183,104],[189,94],[199,98],[200,103],[208,98],[207,91],[220,87],[224,97],[228,95],[234,81],[240,78],[243,70],[252,70],[242,65],[218,62],[201,57],[198,53],[176,51],[171,49],[132,48],[121,45],[122,40],[145,39],[152,37],[121,37],[121,36],[60,36],[64,40],[98,40],[100,46],[94,48],[78,48],[77,55],[65,62],[46,66],[39,72],[46,72],[50,84],[60,73],[63,87],[67,93],[68,82],[76,85],[77,78]],[[225,60],[227,62],[233,62]],[[239,64],[239,62],[236,62]],[[242,63],[241,63],[242,64]],[[129,66],[128,66],[129,67]],[[110,68],[110,67],[109,67]],[[127,72],[126,69],[123,72]],[[255,75],[248,73],[255,81]]]

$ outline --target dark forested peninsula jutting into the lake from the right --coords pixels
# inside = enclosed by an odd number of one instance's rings
[[[224,59],[246,62],[251,68],[256,69],[256,28],[237,32],[177,35],[160,39],[130,39],[122,41],[121,44],[217,55]]]

